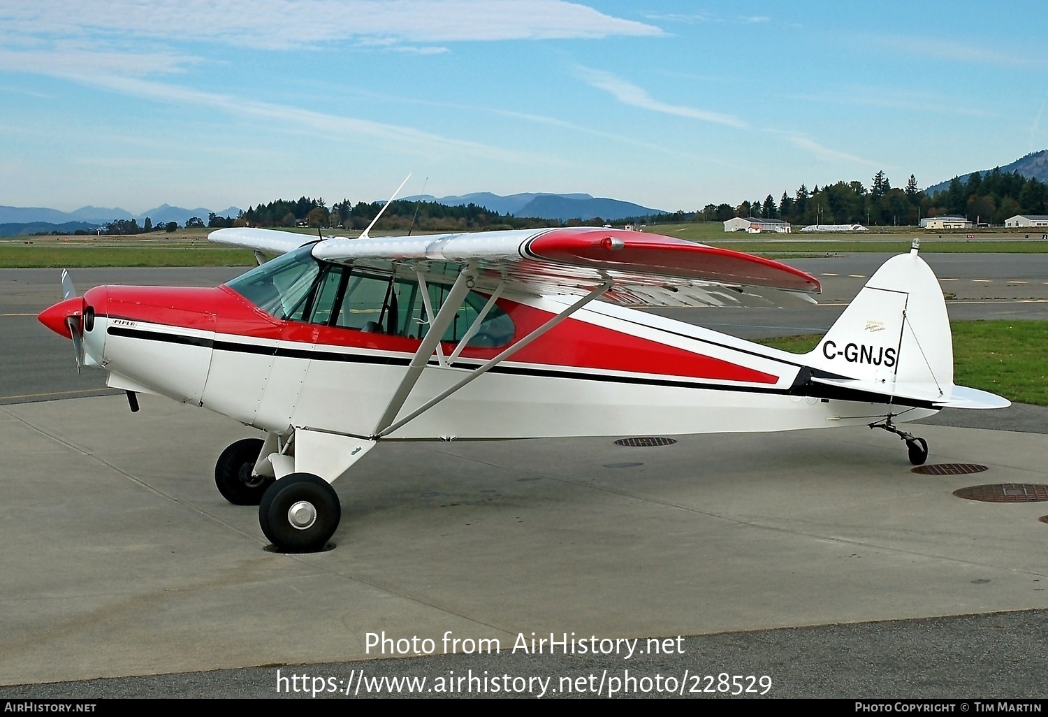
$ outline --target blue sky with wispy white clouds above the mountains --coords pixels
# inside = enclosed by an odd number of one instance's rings
[[[685,211],[1048,147],[1043,2],[4,0],[0,204]]]

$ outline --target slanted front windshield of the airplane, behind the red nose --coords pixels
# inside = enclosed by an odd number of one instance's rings
[[[312,244],[267,261],[226,286],[278,319],[289,319],[309,297],[321,266],[312,257]]]

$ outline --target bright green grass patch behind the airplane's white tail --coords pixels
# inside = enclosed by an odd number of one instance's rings
[[[952,321],[954,383],[1020,404],[1048,406],[1048,321]],[[759,343],[807,353],[823,334]]]

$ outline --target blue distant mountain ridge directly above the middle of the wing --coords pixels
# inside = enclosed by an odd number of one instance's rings
[[[405,197],[409,201],[436,201],[449,207],[477,204],[499,214],[512,214],[518,217],[538,217],[540,219],[623,219],[625,217],[664,214],[662,210],[653,210],[640,204],[619,199],[596,198],[590,194],[548,194],[543,192],[525,192],[501,196],[490,192],[475,192],[461,196],[434,197],[431,194]]]

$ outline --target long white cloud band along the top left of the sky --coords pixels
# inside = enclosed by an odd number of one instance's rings
[[[653,25],[564,0],[5,0],[0,26],[44,37],[152,37],[289,48],[654,36]]]

